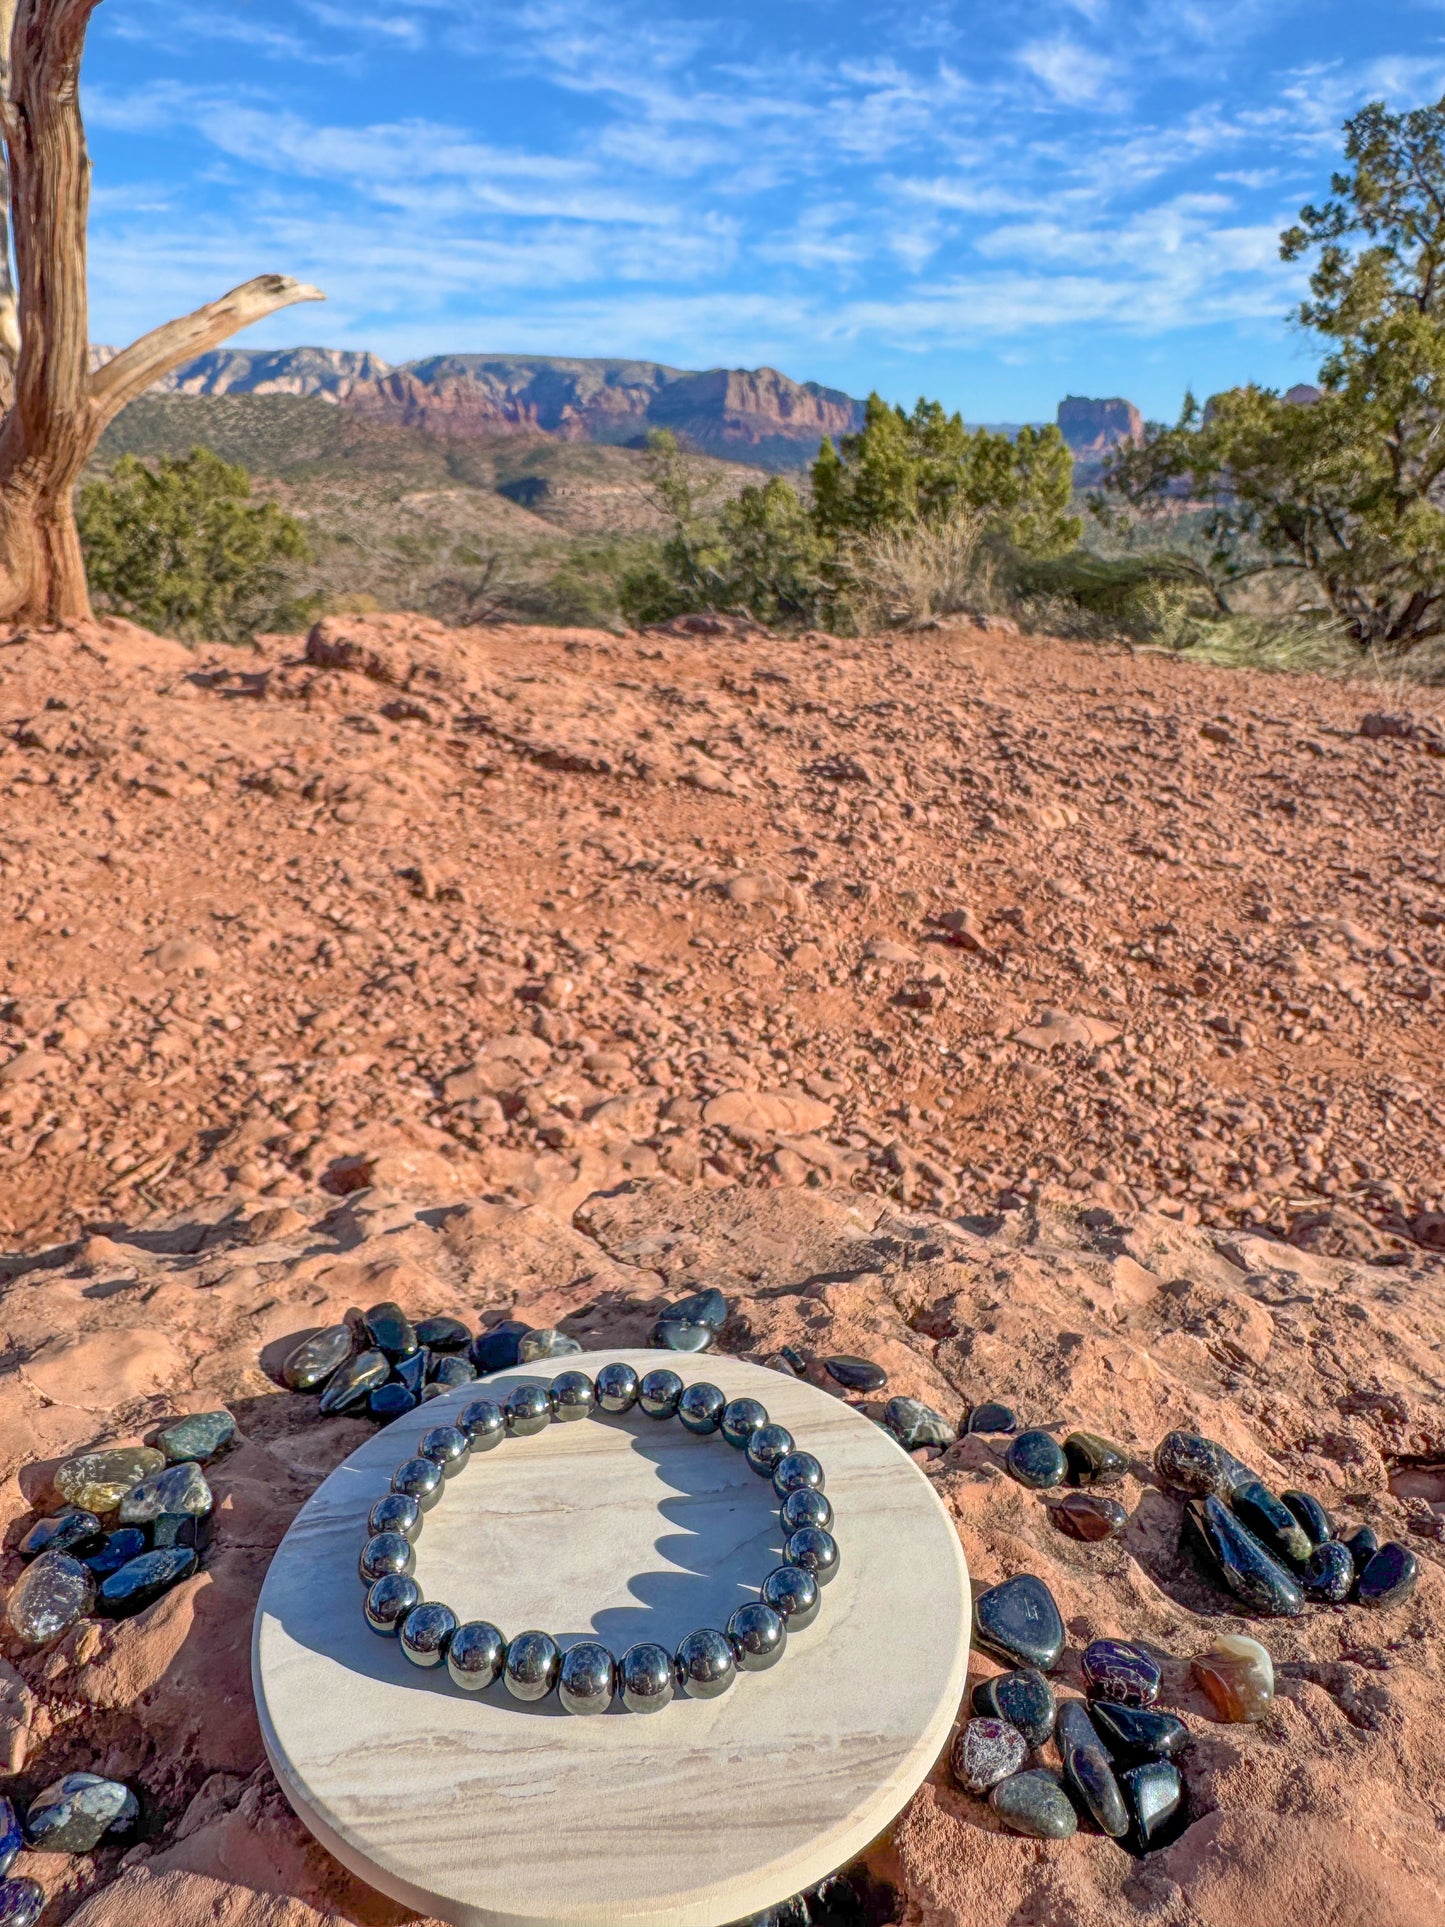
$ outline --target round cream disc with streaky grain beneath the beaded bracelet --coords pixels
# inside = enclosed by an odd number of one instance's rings
[[[609,1359],[755,1397],[827,1470],[840,1571],[769,1673],[721,1700],[576,1719],[464,1694],[362,1619],[366,1513],[420,1436],[482,1389]],[[676,1418],[551,1424],[447,1482],[416,1542],[428,1599],[511,1638],[669,1650],[778,1565],[776,1501]],[[395,1420],[310,1497],[262,1586],[252,1678],[272,1767],[318,1840],[455,1927],[722,1927],[844,1865],[902,1809],[963,1694],[969,1578],[948,1513],[842,1399],[726,1357],[586,1353],[497,1372]]]

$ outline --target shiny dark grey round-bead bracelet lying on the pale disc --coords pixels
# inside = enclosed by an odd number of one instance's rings
[[[728,1445],[748,1453],[748,1465],[773,1482],[780,1499],[784,1563],[769,1572],[755,1601],[738,1607],[726,1632],[703,1626],[690,1632],[676,1653],[642,1640],[615,1659],[599,1640],[582,1640],[566,1651],[547,1632],[505,1640],[486,1619],[460,1624],[449,1605],[422,1599],[412,1578],[412,1542],[445,1480],[460,1472],[474,1451],[491,1451],[509,1432],[516,1438],[541,1432],[555,1418],[630,1412],[634,1405],[649,1418],[676,1416],[699,1436],[719,1432]],[[505,1405],[474,1399],[455,1426],[434,1426],[422,1438],[420,1457],[397,1466],[391,1491],[376,1501],[366,1520],[370,1538],[358,1565],[366,1624],[399,1636],[412,1665],[445,1661],[466,1692],[482,1692],[501,1678],[514,1700],[545,1700],[555,1686],[568,1713],[605,1713],[618,1692],[632,1713],[657,1713],[678,1686],[694,1700],[717,1700],[738,1669],[765,1673],[782,1657],[788,1630],[813,1624],[821,1588],[838,1571],[830,1526],[823,1466],[811,1453],[794,1449],[792,1434],[775,1426],[757,1399],[726,1399],[707,1384],[684,1386],[667,1370],[640,1380],[630,1364],[605,1364],[595,1384],[586,1372],[563,1372],[551,1386],[516,1386]]]

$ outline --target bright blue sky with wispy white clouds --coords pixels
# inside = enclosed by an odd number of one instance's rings
[[[110,0],[92,337],[769,362],[971,420],[1308,378],[1275,237],[1445,0]]]

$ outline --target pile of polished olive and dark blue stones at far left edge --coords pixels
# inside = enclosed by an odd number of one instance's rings
[[[189,1578],[206,1549],[214,1495],[204,1465],[235,1438],[227,1411],[162,1426],[154,1445],[67,1459],[58,1511],[19,1542],[25,1571],[6,1617],[23,1646],[50,1646],[91,1613],[129,1619]]]

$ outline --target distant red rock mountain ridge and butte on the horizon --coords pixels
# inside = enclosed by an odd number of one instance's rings
[[[94,347],[94,366],[116,351]],[[212,349],[156,383],[173,395],[312,395],[356,414],[466,441],[553,436],[559,441],[638,443],[670,428],[705,455],[800,468],[825,436],[863,426],[863,403],[776,368],[670,368],[653,360],[568,355],[430,355],[393,366],[366,349]],[[1083,410],[1129,403],[1077,403],[1064,426],[1079,453],[1098,447]],[[1004,424],[1000,424],[1004,426]],[[1008,424],[1010,428],[1013,424]]]

